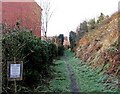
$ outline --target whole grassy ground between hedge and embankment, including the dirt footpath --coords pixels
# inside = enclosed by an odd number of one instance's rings
[[[102,83],[102,73],[98,74],[97,70],[75,58],[69,50],[59,60],[54,61],[52,67],[54,74],[45,92],[116,92],[115,88],[107,89]]]

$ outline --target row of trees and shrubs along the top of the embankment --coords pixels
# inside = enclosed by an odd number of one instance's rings
[[[105,19],[105,15],[101,13],[100,16],[97,18],[97,20],[93,18],[90,19],[89,21],[85,20],[81,22],[76,29],[76,33],[70,31],[69,41],[70,41],[71,49],[73,50],[73,48],[76,46],[76,43],[84,36],[86,32],[93,31],[93,29],[95,29],[100,23],[102,23],[104,19]]]

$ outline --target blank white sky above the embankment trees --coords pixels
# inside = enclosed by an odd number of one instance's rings
[[[42,0],[35,0],[38,4]],[[54,13],[48,24],[47,36],[69,36],[80,22],[98,17],[100,13],[111,15],[118,10],[120,0],[52,0]]]

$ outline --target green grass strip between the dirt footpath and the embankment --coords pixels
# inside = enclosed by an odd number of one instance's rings
[[[77,84],[81,92],[116,92],[117,88],[106,89],[102,81],[106,78],[103,73],[98,74],[98,70],[91,69],[85,62],[74,58],[70,51],[65,52],[67,63],[72,66]]]

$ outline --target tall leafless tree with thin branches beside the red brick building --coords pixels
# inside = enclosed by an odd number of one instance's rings
[[[44,0],[43,3],[42,3],[42,8],[43,8],[43,12],[42,12],[42,31],[43,31],[43,34],[44,34],[45,38],[47,38],[48,23],[49,23],[50,18],[53,14],[53,11],[51,11],[51,1],[50,0]]]

